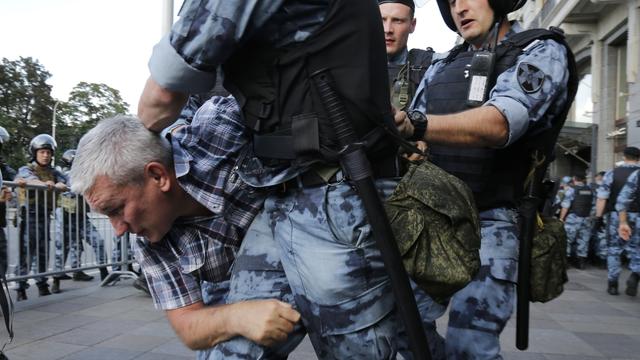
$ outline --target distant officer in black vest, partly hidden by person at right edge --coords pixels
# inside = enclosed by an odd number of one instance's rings
[[[620,277],[620,256],[624,250],[625,241],[618,235],[618,212],[615,209],[618,195],[627,182],[629,175],[640,167],[640,149],[634,146],[626,147],[623,152],[623,164],[604,174],[602,185],[598,187],[596,201],[596,219],[604,217],[607,224],[607,293],[618,295],[618,278]]]

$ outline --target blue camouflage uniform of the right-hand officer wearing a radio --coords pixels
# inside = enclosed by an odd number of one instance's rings
[[[516,22],[506,34],[520,32]],[[534,64],[544,81],[533,92],[524,91],[518,81],[518,64]],[[427,90],[444,61],[434,60],[417,91],[412,110],[426,113]],[[561,113],[567,99],[567,58],[565,48],[552,40],[528,46],[514,66],[497,77],[486,105],[504,114],[509,123],[508,147],[532,127],[549,128]],[[437,165],[437,164],[436,164]],[[511,208],[480,209],[482,245],[481,269],[467,287],[450,301],[446,337],[447,357],[451,359],[500,359],[499,336],[511,317],[515,302],[518,266],[517,212]]]

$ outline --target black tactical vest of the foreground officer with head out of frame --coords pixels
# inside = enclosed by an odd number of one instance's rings
[[[328,74],[374,168],[395,157],[380,12],[367,0],[331,0],[305,41],[276,49],[252,38],[223,65],[224,87],[238,101],[254,153],[263,159],[337,163],[336,136],[312,81]]]

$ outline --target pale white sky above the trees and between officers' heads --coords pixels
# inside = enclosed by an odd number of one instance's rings
[[[174,15],[182,0],[174,0]],[[120,91],[136,113],[147,62],[160,39],[162,0],[0,0],[0,58],[33,57],[52,74],[53,97],[66,101],[80,81]],[[456,35],[435,1],[416,10],[410,47],[446,51]]]

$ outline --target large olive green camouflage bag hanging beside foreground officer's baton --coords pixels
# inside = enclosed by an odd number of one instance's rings
[[[435,301],[480,268],[480,221],[467,185],[427,161],[413,165],[385,208],[409,276]]]

